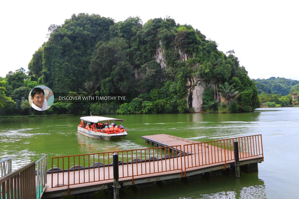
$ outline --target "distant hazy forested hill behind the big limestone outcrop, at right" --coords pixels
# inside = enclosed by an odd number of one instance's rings
[[[282,96],[288,95],[291,89],[296,84],[299,84],[298,80],[286,79],[283,77],[270,77],[268,79],[252,79],[257,86],[259,93],[266,92],[269,94],[279,94]]]

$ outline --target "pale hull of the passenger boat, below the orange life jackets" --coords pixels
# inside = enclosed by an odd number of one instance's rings
[[[101,133],[101,132],[89,131],[89,130],[83,129],[81,127],[78,127],[77,131],[78,131],[78,133],[85,135],[89,138],[94,138],[94,139],[99,139],[99,140],[121,140],[126,135],[128,135],[126,133],[126,131],[122,132],[122,133],[106,134],[106,133]]]

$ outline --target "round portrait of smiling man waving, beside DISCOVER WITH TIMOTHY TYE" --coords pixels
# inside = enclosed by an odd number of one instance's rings
[[[52,106],[54,94],[50,88],[39,85],[30,91],[28,100],[32,108],[44,111]]]

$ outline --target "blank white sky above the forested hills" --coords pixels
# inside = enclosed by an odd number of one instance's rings
[[[73,13],[99,14],[124,21],[139,16],[172,17],[190,24],[218,44],[234,49],[250,78],[299,80],[299,1],[1,1],[0,76],[20,67],[28,71],[34,52],[47,41],[51,24],[61,25]]]

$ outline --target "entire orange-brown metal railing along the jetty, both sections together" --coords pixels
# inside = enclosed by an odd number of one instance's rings
[[[224,163],[234,160],[234,141],[239,142],[239,159],[261,156],[263,161],[262,136],[253,135],[186,144],[183,147],[162,146],[147,149],[117,151],[119,178],[134,177]],[[182,148],[182,149],[181,149]],[[52,158],[50,169],[52,188],[81,183],[113,180],[113,154],[103,152],[83,155],[69,155]],[[178,153],[181,153],[178,154]]]

